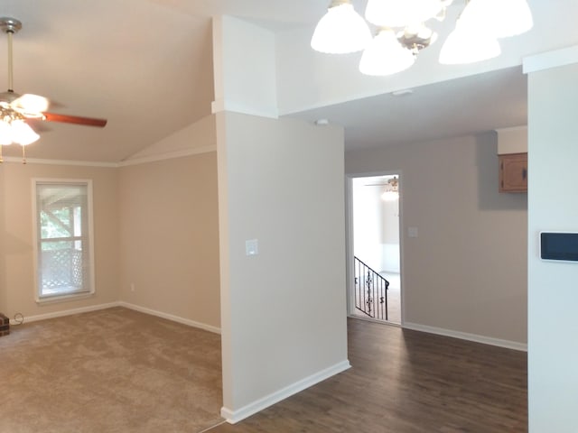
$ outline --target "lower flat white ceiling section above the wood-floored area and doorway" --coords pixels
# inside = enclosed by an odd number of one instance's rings
[[[345,126],[346,150],[478,134],[527,124],[527,78],[521,67],[366,97],[295,116]]]

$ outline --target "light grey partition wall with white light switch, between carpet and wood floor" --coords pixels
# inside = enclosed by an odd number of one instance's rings
[[[343,131],[217,120],[222,414],[236,421],[349,366]]]

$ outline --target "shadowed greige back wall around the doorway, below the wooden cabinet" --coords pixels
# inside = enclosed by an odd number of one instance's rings
[[[497,137],[347,152],[346,173],[402,170],[406,325],[527,341],[527,197],[499,194]],[[394,171],[395,172],[395,171]]]

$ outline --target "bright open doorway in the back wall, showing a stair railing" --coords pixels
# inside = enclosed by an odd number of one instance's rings
[[[402,324],[400,173],[350,179],[349,313]]]

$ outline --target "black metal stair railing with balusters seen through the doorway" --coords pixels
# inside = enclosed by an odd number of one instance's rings
[[[370,318],[387,320],[389,281],[357,257],[355,268],[355,308]]]

